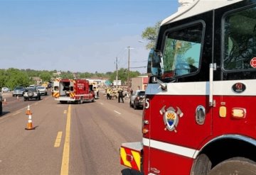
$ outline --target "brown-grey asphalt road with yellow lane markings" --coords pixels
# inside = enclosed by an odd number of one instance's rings
[[[122,142],[142,140],[142,110],[100,96],[94,103],[60,104],[6,97],[0,117],[0,174],[121,174]],[[28,124],[30,106],[34,130]]]

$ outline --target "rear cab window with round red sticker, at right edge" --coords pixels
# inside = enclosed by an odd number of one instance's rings
[[[256,8],[228,13],[223,21],[223,69],[255,70]]]

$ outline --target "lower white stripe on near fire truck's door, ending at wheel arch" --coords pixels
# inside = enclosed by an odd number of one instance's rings
[[[146,147],[153,147],[156,149],[163,150],[165,152],[171,152],[174,154],[182,155],[185,157],[190,157],[193,159],[195,159],[199,153],[199,151],[196,149],[191,149],[188,147],[181,147],[178,145],[173,145],[173,144],[166,143],[166,142],[159,142],[156,140],[149,140],[146,138],[143,138],[143,145]]]

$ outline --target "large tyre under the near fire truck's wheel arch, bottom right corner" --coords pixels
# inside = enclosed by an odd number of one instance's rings
[[[224,175],[224,174],[240,174],[253,175],[256,174],[256,162],[243,157],[234,157],[227,159],[220,164],[217,164],[210,170],[209,175]]]

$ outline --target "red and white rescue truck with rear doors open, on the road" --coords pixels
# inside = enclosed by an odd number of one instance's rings
[[[53,81],[53,97],[60,103],[95,101],[92,85],[85,79],[57,79]]]

